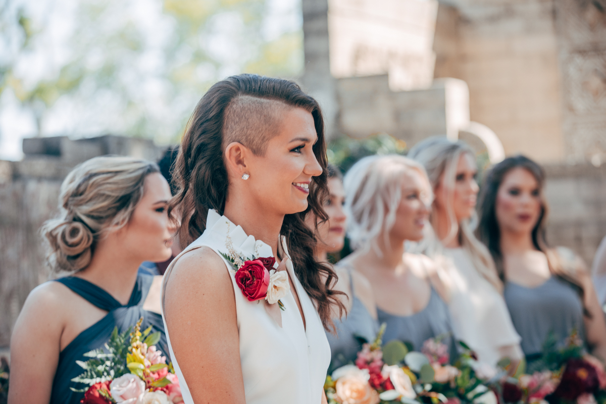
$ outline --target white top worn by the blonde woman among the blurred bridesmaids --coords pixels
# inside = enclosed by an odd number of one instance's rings
[[[473,266],[463,248],[445,248],[451,260],[450,314],[454,336],[467,343],[481,362],[496,365],[500,346],[515,345],[521,338],[511,322],[505,299]]]

